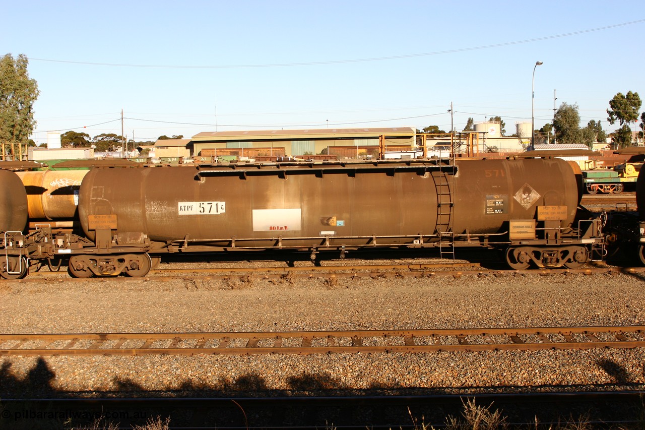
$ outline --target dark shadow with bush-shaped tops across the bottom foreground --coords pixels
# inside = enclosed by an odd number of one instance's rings
[[[368,389],[351,389],[341,379],[327,374],[298,373],[294,369],[294,374],[286,377],[288,389],[284,390],[268,389],[268,378],[250,373],[235,379],[219,378],[208,384],[186,379],[161,391],[147,391],[134,380],[115,377],[114,389],[110,391],[68,392],[55,389],[55,374],[44,358],[37,359],[24,376],[14,373],[11,363],[5,360],[0,366],[0,429],[78,428],[91,426],[97,418],[103,422],[121,423],[121,428],[131,428],[143,425],[155,416],[169,417],[171,428],[289,425],[321,429],[347,426],[399,429],[413,426],[410,415],[419,422],[423,420],[424,424],[444,425],[449,415],[461,415],[462,400],[469,395],[473,398],[473,393],[643,389],[643,384],[632,382],[642,375],[630,376],[622,365],[611,360],[598,360],[596,364],[615,380],[614,384],[424,388],[374,382]],[[79,374],[79,378],[82,379],[83,374]],[[347,400],[342,396],[359,397],[359,400]],[[446,400],[446,396],[451,397]],[[100,399],[79,400],[92,397]],[[373,399],[382,397],[389,400]],[[149,400],[153,398],[156,400]],[[291,398],[292,402],[286,405],[267,403],[272,398]],[[315,400],[310,400],[312,398]],[[527,404],[519,400],[519,396],[511,397],[516,398],[518,400],[495,400],[493,409],[500,409],[508,422],[532,422],[531,428],[535,429],[542,428],[535,425],[536,419],[541,423],[564,423],[584,416],[586,420],[609,422],[638,419],[645,411],[642,399],[640,402],[602,399],[551,403],[542,400]],[[493,402],[481,396],[476,401],[484,407]],[[558,427],[544,424],[543,428]]]

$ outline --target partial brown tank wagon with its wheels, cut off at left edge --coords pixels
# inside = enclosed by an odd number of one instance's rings
[[[16,279],[25,276],[27,259],[23,231],[27,222],[27,196],[18,176],[0,169],[0,276]]]

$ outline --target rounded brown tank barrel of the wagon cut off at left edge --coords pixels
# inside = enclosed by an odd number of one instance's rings
[[[0,232],[23,231],[27,223],[27,195],[20,178],[0,170]]]

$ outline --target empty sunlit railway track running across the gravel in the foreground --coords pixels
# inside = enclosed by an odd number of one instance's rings
[[[645,347],[645,326],[0,334],[0,356],[430,353]]]

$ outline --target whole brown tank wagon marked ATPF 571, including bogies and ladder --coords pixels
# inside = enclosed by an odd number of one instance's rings
[[[515,269],[578,267],[602,247],[599,221],[576,218],[580,198],[561,159],[100,168],[79,190],[83,236],[54,234],[39,252],[77,277],[269,249],[486,247]]]

